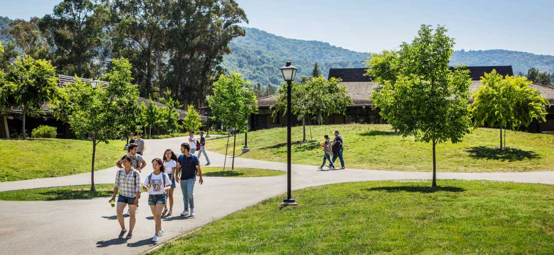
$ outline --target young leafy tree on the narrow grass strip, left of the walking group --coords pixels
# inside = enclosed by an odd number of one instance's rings
[[[96,145],[129,134],[129,126],[139,119],[139,90],[131,83],[131,64],[123,58],[114,59],[113,67],[104,80],[110,83],[93,89],[89,83],[76,78],[66,84],[61,100],[55,101],[58,118],[68,121],[77,136],[92,137],[91,191],[94,186]]]

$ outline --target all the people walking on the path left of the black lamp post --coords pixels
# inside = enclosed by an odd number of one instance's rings
[[[194,183],[196,183],[196,176],[198,175],[198,183],[200,185],[204,182],[198,160],[202,152],[206,156],[206,165],[209,165],[208,155],[205,150],[206,140],[204,139],[203,132],[200,132],[201,141],[197,143],[194,138],[194,132],[189,132],[188,142],[181,144],[181,155],[177,157],[173,150],[165,150],[162,159],[155,158],[152,160],[153,172],[141,179],[141,171],[147,165],[142,157],[146,147],[143,141],[140,142],[142,140],[140,134],[136,135],[137,139],[129,144],[128,153],[122,156],[116,164],[119,170],[117,170],[115,175],[114,195],[111,197],[110,203],[117,202],[117,221],[121,226],[119,238],[123,238],[125,233],[127,233],[124,215],[130,216],[129,233],[125,237],[130,239],[135,228],[135,215],[139,212],[141,190],[147,191],[148,205],[155,221],[155,234],[152,237],[152,242],[157,242],[158,237],[162,236],[164,232],[161,226],[162,215],[172,215],[173,190],[176,187],[176,183],[180,183],[181,192],[183,193],[184,210],[181,215],[194,216],[193,189]],[[139,144],[142,144],[142,146],[139,146]],[[197,145],[201,148],[199,148],[198,156],[195,156],[194,151],[196,151]],[[116,200],[115,196],[118,191],[119,196]],[[167,200],[170,203],[169,210],[166,205]],[[124,214],[125,207],[129,207],[129,210]]]

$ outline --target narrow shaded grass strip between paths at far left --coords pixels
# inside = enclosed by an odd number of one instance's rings
[[[114,184],[96,184],[96,191],[90,192],[90,185],[65,186],[54,188],[35,188],[33,190],[14,190],[0,192],[0,200],[9,201],[53,201],[109,197],[114,194]],[[106,200],[107,203],[107,200]]]

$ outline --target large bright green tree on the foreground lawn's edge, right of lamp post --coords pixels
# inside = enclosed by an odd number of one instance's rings
[[[372,99],[383,118],[404,137],[413,134],[416,141],[432,143],[433,187],[437,186],[435,147],[461,141],[471,125],[469,71],[449,70],[454,39],[446,33],[442,26],[433,30],[422,25],[412,43],[402,43],[397,54],[383,52],[369,62],[370,75],[382,85],[373,91]],[[373,69],[374,64],[389,65],[398,72]]]

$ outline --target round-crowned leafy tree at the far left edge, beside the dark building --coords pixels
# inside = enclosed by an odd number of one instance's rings
[[[6,84],[2,90],[7,93],[10,103],[6,107],[22,110],[22,135],[25,139],[26,116],[44,114],[42,105],[57,97],[58,77],[55,68],[47,60],[35,60],[29,56],[18,57],[9,65],[4,79]]]

